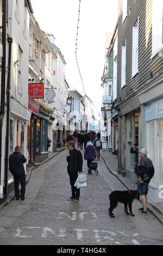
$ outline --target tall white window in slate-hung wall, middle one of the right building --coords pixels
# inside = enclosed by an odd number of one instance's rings
[[[139,51],[139,19],[133,27],[133,60],[132,60],[132,76],[138,72],[138,52]]]

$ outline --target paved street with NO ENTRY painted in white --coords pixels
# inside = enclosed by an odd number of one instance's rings
[[[0,211],[0,245],[162,245],[163,228],[148,213],[126,216],[122,204],[108,215],[109,193],[126,190],[109,173],[103,160],[99,175],[87,175],[80,201],[70,202],[70,181],[64,151],[35,169],[27,185],[26,200],[11,202]],[[87,173],[86,161],[83,171]]]

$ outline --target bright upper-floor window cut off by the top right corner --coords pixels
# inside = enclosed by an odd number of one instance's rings
[[[152,9],[152,55],[158,53],[163,48],[162,42],[162,0],[153,0]]]

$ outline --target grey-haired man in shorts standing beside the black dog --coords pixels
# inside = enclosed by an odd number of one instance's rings
[[[140,161],[139,166],[135,166],[135,172],[137,173],[137,189],[141,196],[141,202],[143,208],[137,209],[143,215],[147,215],[147,193],[149,182],[154,175],[154,167],[152,160],[147,157],[147,149],[141,149],[139,152]]]

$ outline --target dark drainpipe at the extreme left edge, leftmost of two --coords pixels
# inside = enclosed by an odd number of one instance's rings
[[[5,105],[5,69],[6,69],[6,32],[7,32],[7,0],[2,1],[2,78],[1,78],[1,112],[0,112],[0,186],[1,186],[1,164],[2,164],[2,126]]]

